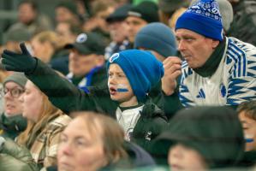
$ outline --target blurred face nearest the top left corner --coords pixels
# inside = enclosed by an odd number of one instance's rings
[[[31,4],[23,3],[19,6],[18,17],[22,23],[29,24],[35,19],[36,12],[33,10]]]

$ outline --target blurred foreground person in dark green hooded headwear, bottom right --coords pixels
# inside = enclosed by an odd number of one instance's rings
[[[168,155],[171,170],[234,167],[241,161],[244,139],[233,109],[182,109],[155,141],[153,151]]]

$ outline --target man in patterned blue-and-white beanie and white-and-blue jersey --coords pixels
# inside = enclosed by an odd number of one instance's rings
[[[256,48],[223,35],[215,0],[189,7],[176,22],[176,38],[185,61],[171,59],[171,69],[165,72],[172,77],[170,85],[176,85],[173,78],[182,67],[179,91],[184,106],[237,106],[256,99]]]

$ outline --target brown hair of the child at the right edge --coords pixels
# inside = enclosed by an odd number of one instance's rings
[[[245,112],[245,115],[256,121],[256,101],[241,103],[236,109],[237,113]]]

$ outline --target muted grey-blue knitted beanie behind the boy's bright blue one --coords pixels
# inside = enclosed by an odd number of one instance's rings
[[[168,57],[176,56],[176,38],[170,27],[160,22],[152,22],[137,33],[134,48],[155,50],[158,54]]]

